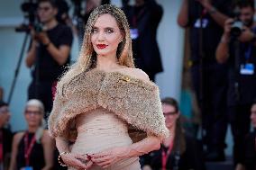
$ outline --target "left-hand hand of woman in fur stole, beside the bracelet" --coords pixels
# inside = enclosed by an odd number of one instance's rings
[[[76,169],[85,170],[93,165],[93,162],[87,157],[87,155],[69,153],[62,155],[61,158],[67,166],[72,166]]]

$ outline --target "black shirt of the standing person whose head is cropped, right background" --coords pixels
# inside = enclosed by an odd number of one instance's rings
[[[226,15],[231,13],[232,0],[215,0],[212,3],[215,8]],[[203,18],[203,51],[205,61],[215,61],[215,49],[220,41],[223,28],[211,17],[209,13],[204,13],[203,6],[196,0],[188,0],[188,27],[189,42],[191,50],[191,60],[198,62],[200,60],[199,40],[200,40],[200,22]]]

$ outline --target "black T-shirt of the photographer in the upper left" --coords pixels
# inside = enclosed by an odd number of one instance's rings
[[[47,31],[47,35],[51,43],[57,48],[61,45],[68,45],[69,47],[72,45],[72,31],[66,25],[58,24]],[[36,76],[39,76],[39,81],[48,82],[57,80],[70,62],[69,56],[66,63],[63,66],[59,66],[58,62],[50,56],[49,51],[42,44],[37,49],[37,59],[35,67],[32,69],[33,80],[36,79]]]

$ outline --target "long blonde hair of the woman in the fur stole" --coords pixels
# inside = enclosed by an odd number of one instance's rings
[[[87,21],[81,50],[79,52],[78,61],[73,66],[69,67],[68,72],[63,74],[63,76],[60,78],[59,85],[69,83],[75,76],[96,67],[96,51],[93,49],[91,42],[91,33],[96,19],[105,13],[111,14],[115,18],[115,21],[123,34],[123,41],[119,43],[116,52],[118,63],[122,66],[134,67],[132,40],[129,23],[126,16],[120,8],[114,6],[113,4],[104,4],[97,7],[90,14]]]

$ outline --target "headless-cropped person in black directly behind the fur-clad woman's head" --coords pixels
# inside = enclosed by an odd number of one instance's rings
[[[155,0],[135,0],[133,6],[128,5],[127,0],[122,2],[131,27],[135,67],[141,68],[151,81],[155,81],[156,74],[163,71],[157,42],[162,7]]]

